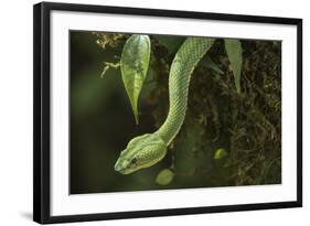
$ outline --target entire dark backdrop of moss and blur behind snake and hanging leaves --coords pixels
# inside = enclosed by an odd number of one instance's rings
[[[72,194],[281,183],[280,41],[240,41],[238,94],[217,39],[192,75],[186,118],[167,157],[133,174],[116,172],[128,141],[153,132],[165,119],[169,68],[185,39],[150,35],[137,126],[119,68],[100,77],[104,62],[119,62],[128,36],[71,32]],[[164,180],[158,180],[160,172]]]

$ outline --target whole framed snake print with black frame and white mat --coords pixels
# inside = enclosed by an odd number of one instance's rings
[[[302,205],[302,20],[34,6],[34,220]]]

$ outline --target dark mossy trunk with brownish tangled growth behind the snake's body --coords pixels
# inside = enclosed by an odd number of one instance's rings
[[[220,73],[202,61],[192,75],[186,118],[170,150],[178,180],[200,180],[199,184],[205,186],[270,184],[281,180],[281,45],[269,41],[238,42],[243,44],[242,94],[236,90],[235,77],[229,76],[232,62],[223,40],[215,41],[209,52],[223,74],[217,76]],[[164,98],[167,65],[172,57],[163,56],[161,49],[162,45],[153,47],[158,76],[149,95],[157,100],[157,127],[169,108]],[[216,159],[213,151],[218,147],[226,152],[218,151],[222,159]]]

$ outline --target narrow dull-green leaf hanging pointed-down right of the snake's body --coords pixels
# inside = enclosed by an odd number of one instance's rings
[[[235,86],[240,93],[240,73],[243,65],[243,49],[238,40],[225,39],[225,49],[234,73]]]

